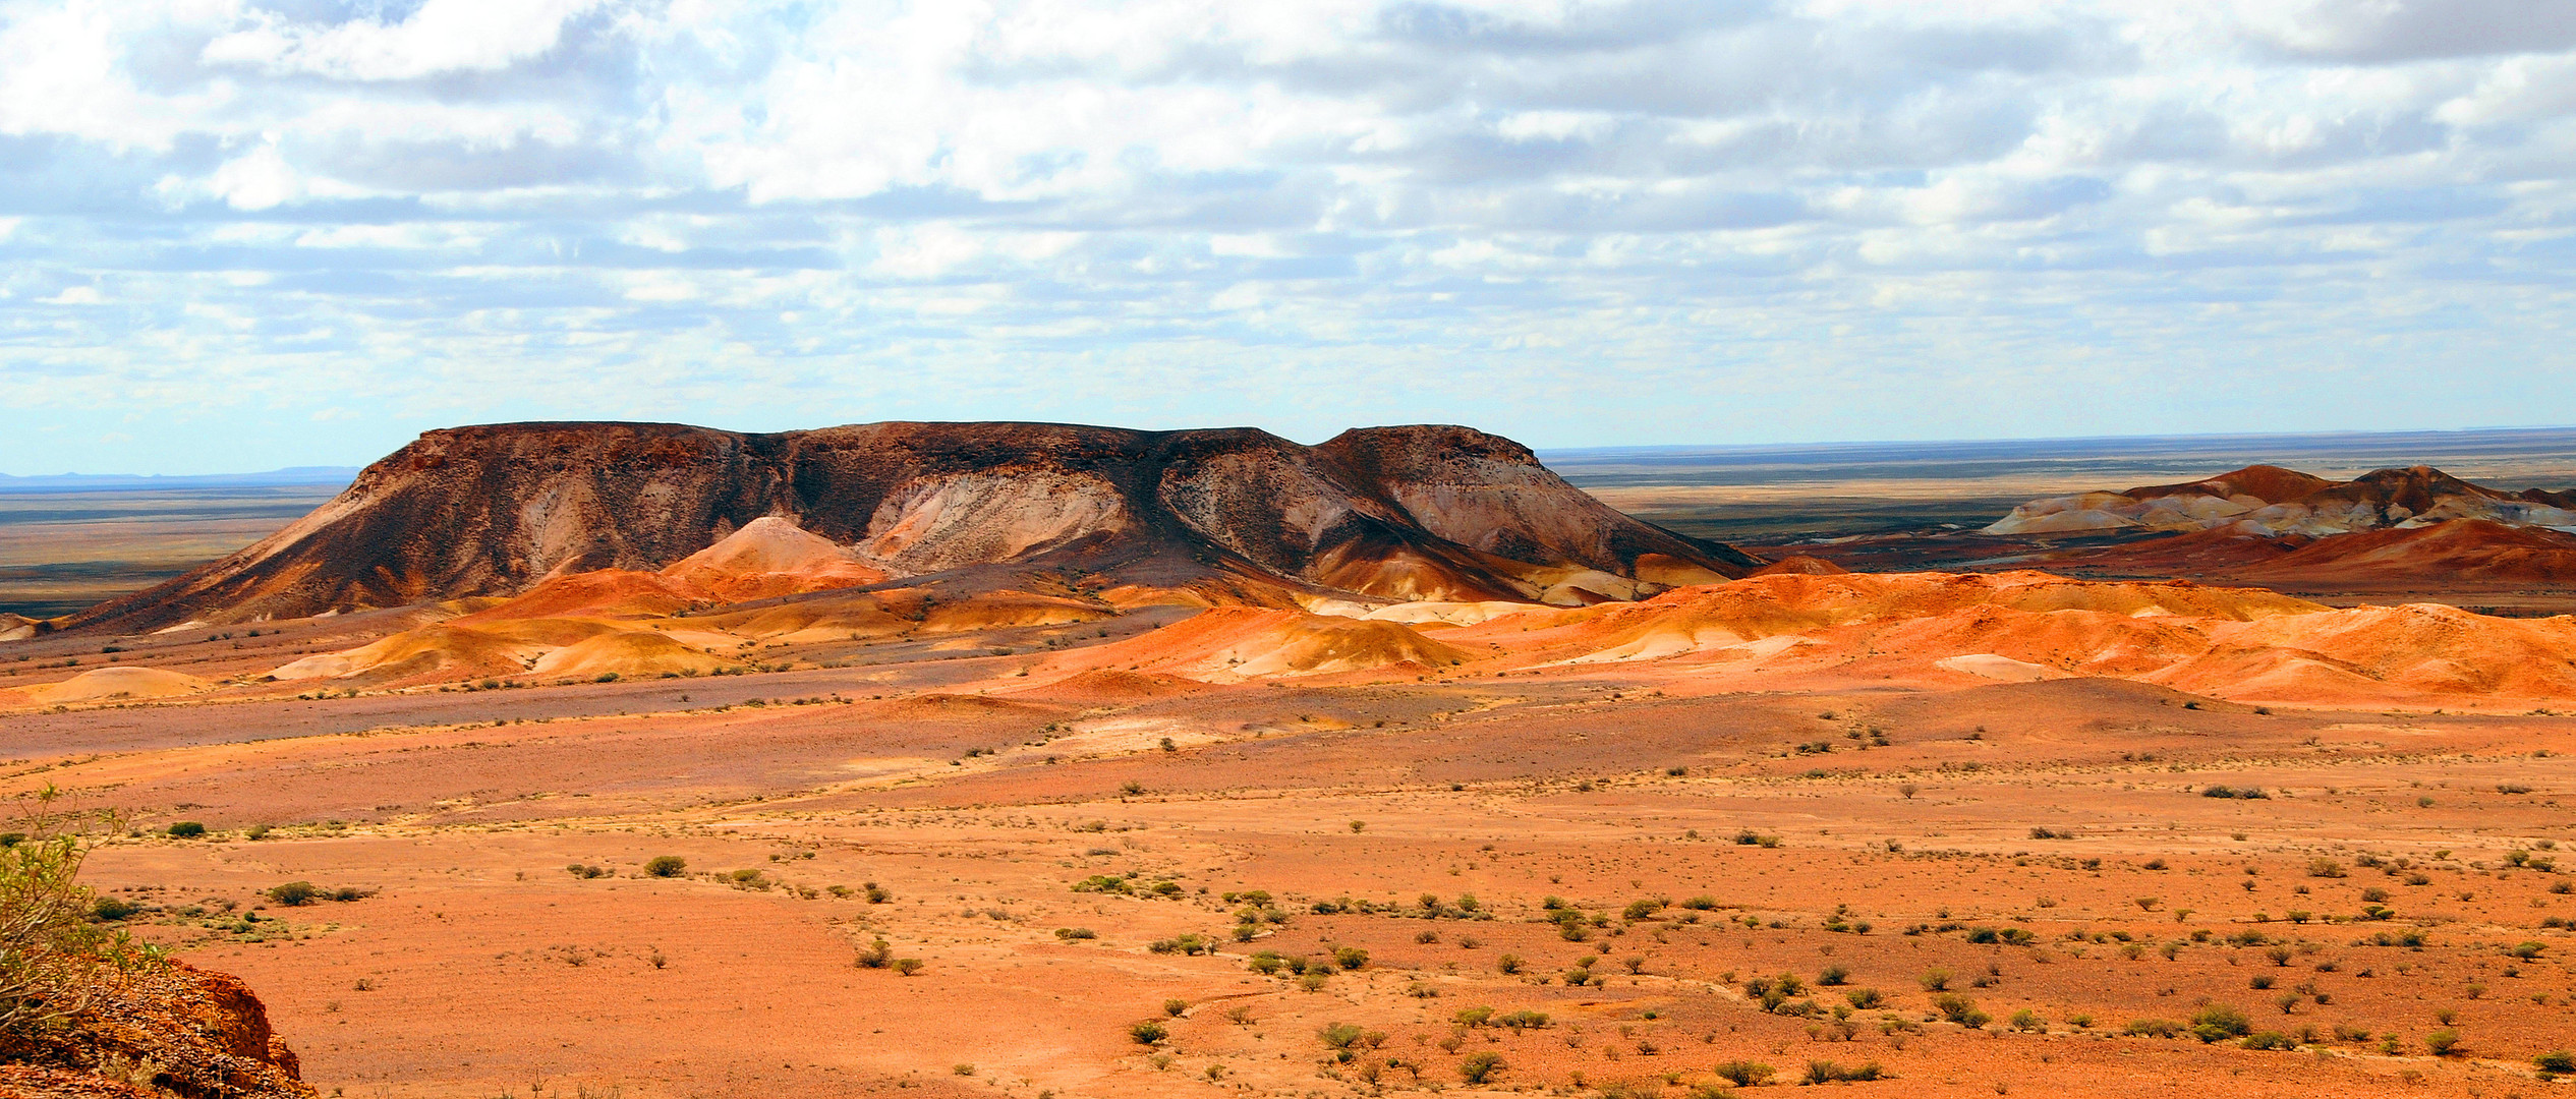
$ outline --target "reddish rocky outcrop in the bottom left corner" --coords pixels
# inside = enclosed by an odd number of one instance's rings
[[[188,963],[111,975],[64,1027],[0,1037],[0,1096],[314,1099],[268,1009]]]

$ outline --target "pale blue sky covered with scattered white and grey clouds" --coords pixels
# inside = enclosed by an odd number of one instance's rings
[[[2576,422],[2563,0],[0,0],[0,474]]]

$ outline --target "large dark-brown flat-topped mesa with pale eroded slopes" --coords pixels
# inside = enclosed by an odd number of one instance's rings
[[[64,625],[402,607],[598,569],[693,574],[708,561],[683,561],[760,520],[726,553],[783,553],[842,582],[1010,564],[1597,602],[1759,566],[1631,520],[1471,427],[1363,427],[1306,448],[1249,427],[528,422],[425,432],[258,546]]]

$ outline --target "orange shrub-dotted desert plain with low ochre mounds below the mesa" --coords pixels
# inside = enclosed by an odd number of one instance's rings
[[[325,1094],[2506,1096],[2576,1048],[2568,618],[1806,571],[670,618],[873,579],[732,566],[21,641],[5,782],[129,813],[93,883]]]

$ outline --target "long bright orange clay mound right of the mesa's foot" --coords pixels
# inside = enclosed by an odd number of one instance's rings
[[[2576,697],[2576,618],[2331,610],[2264,589],[2038,571],[1749,577],[1443,633],[1507,664],[1690,661],[1713,672],[2123,677],[2254,703]],[[1937,679],[1932,679],[1937,682]]]

